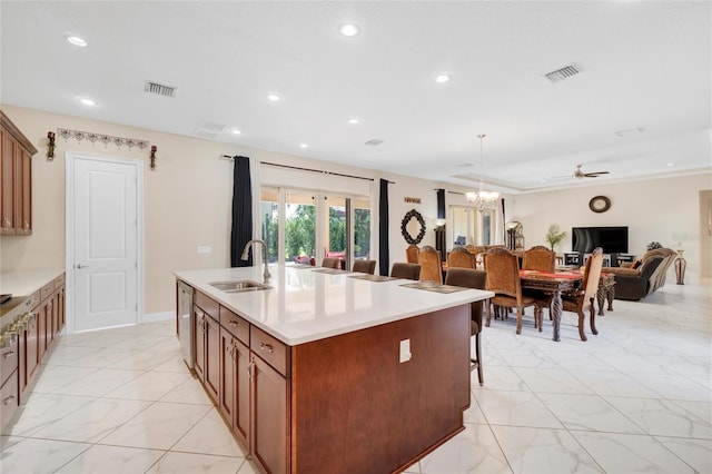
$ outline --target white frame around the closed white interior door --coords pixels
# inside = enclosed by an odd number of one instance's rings
[[[65,152],[65,179],[66,179],[66,192],[65,192],[65,268],[67,269],[66,277],[66,296],[65,304],[67,307],[67,333],[72,334],[76,332],[77,318],[75,307],[75,160],[85,159],[90,161],[105,161],[113,162],[118,165],[129,165],[136,168],[136,305],[137,310],[137,324],[144,322],[144,160],[136,158],[125,157],[109,157],[96,154],[87,154],[82,151],[66,151]]]

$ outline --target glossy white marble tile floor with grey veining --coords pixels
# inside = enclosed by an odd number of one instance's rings
[[[484,328],[466,429],[407,473],[711,473],[712,286],[614,302],[599,335],[562,340],[525,316]],[[254,473],[170,320],[61,336],[17,422],[2,473]],[[374,473],[379,474],[379,473]]]

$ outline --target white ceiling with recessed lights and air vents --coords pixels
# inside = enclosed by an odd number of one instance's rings
[[[586,184],[710,172],[711,4],[2,1],[0,99],[511,192],[580,185],[551,179],[578,164],[610,171]]]

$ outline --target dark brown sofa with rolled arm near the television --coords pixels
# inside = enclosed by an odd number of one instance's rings
[[[604,267],[602,271],[615,275],[615,299],[637,302],[665,285],[668,269],[676,255],[670,248],[655,248],[632,264]]]

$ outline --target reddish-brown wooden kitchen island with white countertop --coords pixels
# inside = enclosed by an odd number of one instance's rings
[[[491,293],[271,273],[270,289],[236,293],[211,284],[261,269],[175,273],[194,289],[196,374],[261,471],[400,472],[464,429],[469,304]]]

